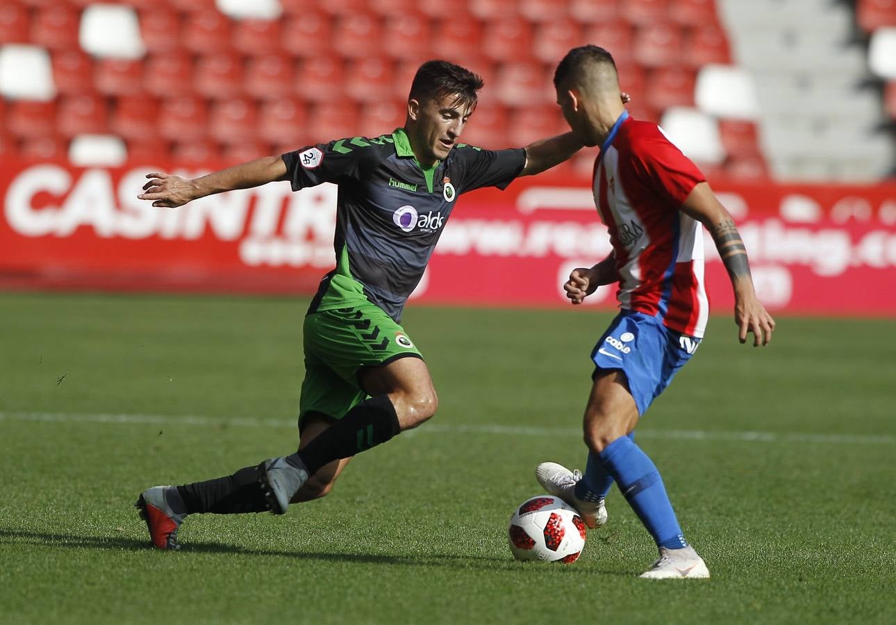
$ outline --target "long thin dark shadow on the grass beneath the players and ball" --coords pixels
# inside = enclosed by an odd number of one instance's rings
[[[34,544],[39,546],[63,549],[101,549],[110,551],[140,551],[150,549],[145,540],[125,538],[121,536],[88,536],[73,534],[50,534],[44,532],[28,532],[22,530],[0,529],[0,544]],[[274,549],[246,549],[234,544],[195,543],[181,545],[178,553],[230,553],[247,557],[280,556],[308,561],[354,562],[359,564],[392,564],[395,566],[442,566],[456,569],[530,569],[527,563],[508,561],[506,558],[490,558],[480,555],[458,555],[452,553],[432,553],[426,556],[384,555],[379,553],[321,553],[321,552],[284,552]],[[555,569],[551,567],[550,569]],[[547,569],[546,569],[547,570]],[[574,572],[575,567],[563,567],[561,570]],[[628,575],[619,571],[594,571],[607,575]]]

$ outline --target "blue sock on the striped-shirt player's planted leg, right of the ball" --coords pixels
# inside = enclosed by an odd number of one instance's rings
[[[607,445],[599,458],[657,545],[668,549],[686,547],[666,487],[647,454],[624,436]]]

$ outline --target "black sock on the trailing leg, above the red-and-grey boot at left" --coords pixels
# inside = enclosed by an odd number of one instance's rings
[[[258,467],[246,467],[226,477],[177,486],[177,492],[184,500],[187,514],[263,512],[268,505],[258,486],[258,477]]]

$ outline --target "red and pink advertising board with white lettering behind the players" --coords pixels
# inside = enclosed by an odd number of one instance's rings
[[[292,193],[275,183],[153,209],[136,195],[158,167],[0,165],[0,287],[298,294],[332,268],[334,186]],[[896,184],[713,187],[772,310],[896,314]],[[704,238],[712,305],[730,310],[728,278]],[[569,271],[608,252],[587,179],[521,178],[461,197],[414,298],[564,305]],[[608,288],[590,299],[615,305]]]

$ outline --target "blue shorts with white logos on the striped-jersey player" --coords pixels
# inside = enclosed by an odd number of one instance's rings
[[[699,345],[699,338],[669,330],[657,317],[623,311],[591,352],[597,365],[594,375],[607,369],[624,372],[638,414],[643,415]]]

